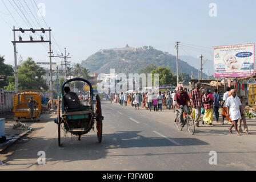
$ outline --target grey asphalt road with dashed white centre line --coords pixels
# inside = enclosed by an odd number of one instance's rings
[[[10,163],[0,170],[255,170],[255,131],[251,135],[229,134],[227,125],[202,126],[190,135],[178,131],[174,113],[154,112],[130,105],[102,101],[103,138],[95,131],[82,140],[62,133],[58,147],[57,125],[47,119],[30,138],[9,147],[1,158]],[[255,125],[249,123],[249,127]],[[46,164],[39,165],[38,151]],[[217,165],[210,164],[217,152]]]

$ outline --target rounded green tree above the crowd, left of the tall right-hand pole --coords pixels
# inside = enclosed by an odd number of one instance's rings
[[[171,72],[170,69],[166,67],[158,67],[151,71],[153,74],[153,82],[154,82],[154,74],[158,73],[159,74],[159,85],[166,85],[166,84],[171,84],[175,85],[176,80],[175,76],[173,76],[173,73]]]

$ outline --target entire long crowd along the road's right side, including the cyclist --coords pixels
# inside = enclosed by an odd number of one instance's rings
[[[249,134],[248,127],[246,125],[245,117],[245,104],[242,102],[243,98],[237,96],[237,92],[234,89],[226,87],[226,93],[221,98],[217,89],[214,89],[214,93],[211,93],[208,88],[201,89],[200,83],[195,84],[195,88],[190,92],[183,89],[182,86],[178,88],[178,91],[171,92],[147,92],[147,93],[115,93],[107,94],[106,99],[112,103],[119,103],[121,106],[131,104],[135,106],[135,109],[144,107],[149,111],[162,111],[162,107],[167,109],[173,109],[177,118],[181,118],[183,121],[183,114],[181,114],[181,106],[186,114],[193,115],[194,123],[196,127],[199,127],[199,121],[203,125],[213,125],[213,114],[215,115],[216,122],[219,122],[219,108],[222,108],[222,125],[224,119],[229,121],[231,126],[229,132],[232,133],[233,127],[237,131],[237,135],[242,133],[242,122],[244,130],[243,132]],[[123,104],[124,103],[124,104]],[[191,109],[190,109],[190,108]],[[203,118],[201,118],[201,114]],[[238,126],[237,126],[238,123]],[[184,123],[181,122],[181,125]]]

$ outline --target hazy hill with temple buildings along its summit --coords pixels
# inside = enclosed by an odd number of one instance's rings
[[[115,73],[138,73],[139,69],[149,64],[157,67],[167,67],[176,75],[176,56],[168,52],[159,51],[153,47],[141,48],[139,50],[119,51],[115,49],[103,49],[89,56],[82,61],[82,67],[88,68],[91,73],[110,73],[110,69],[115,69]],[[179,73],[185,72],[194,78],[198,78],[198,69],[195,69],[185,61],[179,59]],[[203,77],[206,77],[203,74]]]

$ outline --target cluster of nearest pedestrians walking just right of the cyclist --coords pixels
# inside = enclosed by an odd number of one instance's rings
[[[199,83],[195,85],[195,89],[191,91],[189,96],[192,101],[195,126],[199,127],[201,114],[204,114],[202,118],[203,125],[213,125],[213,114],[215,115],[216,122],[219,122],[219,107],[222,107],[222,125],[226,118],[231,123],[231,127],[229,128],[230,133],[232,133],[232,128],[235,127],[237,135],[241,135],[241,122],[243,121],[243,131],[249,134],[245,117],[246,105],[242,102],[242,96],[238,97],[237,91],[230,89],[229,86],[227,86],[226,90],[226,93],[223,94],[223,98],[221,99],[217,89],[214,89],[214,93],[212,94],[209,89],[201,90]]]

